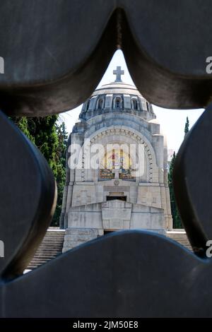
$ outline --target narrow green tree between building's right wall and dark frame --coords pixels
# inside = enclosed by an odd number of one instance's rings
[[[170,203],[171,203],[171,211],[172,211],[172,219],[173,219],[173,228],[183,228],[182,221],[179,216],[179,211],[177,209],[177,203],[175,201],[175,193],[174,193],[174,187],[173,187],[173,181],[172,181],[175,159],[176,159],[176,155],[174,152],[172,155],[172,160],[170,162],[170,170],[168,173],[168,184],[169,184],[169,188],[170,188]]]

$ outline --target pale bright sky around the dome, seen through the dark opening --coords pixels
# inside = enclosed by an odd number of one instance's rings
[[[122,66],[124,69],[124,76],[122,76],[122,81],[129,84],[134,84],[126,67],[126,62],[124,60],[124,55],[122,51],[118,50],[114,53],[112,60],[110,61],[105,75],[102,77],[99,86],[102,84],[113,82],[115,76],[112,71],[116,69],[117,66]],[[145,84],[145,82],[143,83]],[[72,109],[69,112],[61,114],[62,119],[64,119],[66,124],[66,129],[70,133],[73,125],[78,121],[78,115],[81,112],[81,106]],[[177,151],[180,144],[184,138],[184,124],[187,116],[189,117],[190,128],[200,117],[204,109],[164,109],[153,105],[154,112],[160,125],[163,129],[163,133],[167,136],[167,148]]]

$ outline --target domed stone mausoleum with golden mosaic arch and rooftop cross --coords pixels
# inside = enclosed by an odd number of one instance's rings
[[[122,82],[119,66],[114,74],[83,104],[69,136],[63,251],[115,230],[172,230],[165,137],[152,105]],[[88,155],[98,155],[95,167]]]

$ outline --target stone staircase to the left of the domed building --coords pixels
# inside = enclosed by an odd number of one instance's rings
[[[37,268],[37,266],[61,254],[64,245],[64,235],[64,230],[49,227],[40,247],[28,266],[28,270],[33,270],[33,268]]]

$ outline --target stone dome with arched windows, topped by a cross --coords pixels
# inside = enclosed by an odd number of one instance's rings
[[[152,105],[142,97],[135,85],[122,82],[120,66],[113,71],[117,76],[112,83],[97,88],[83,104],[80,119],[88,120],[108,112],[126,112],[149,121],[155,119]]]

